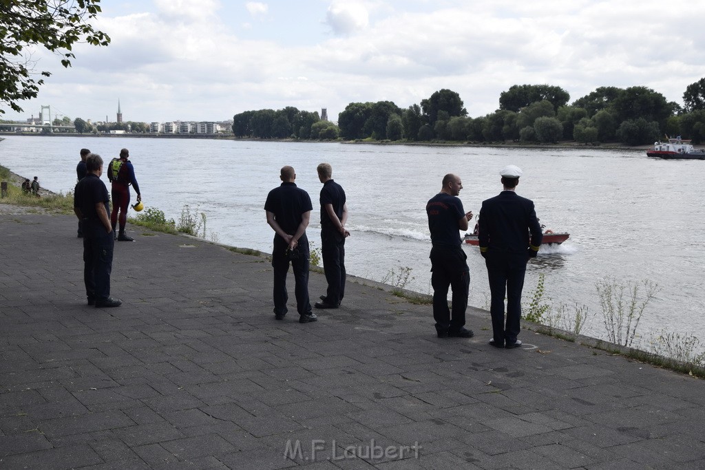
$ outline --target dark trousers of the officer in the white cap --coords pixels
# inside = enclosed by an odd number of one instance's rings
[[[511,344],[517,340],[522,316],[522,289],[528,258],[525,254],[487,252],[485,266],[491,295],[492,336],[495,342]],[[504,297],[507,318],[504,318]]]

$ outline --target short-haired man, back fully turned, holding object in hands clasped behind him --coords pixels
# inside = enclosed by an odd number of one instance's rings
[[[274,230],[274,250],[271,254],[271,266],[274,268],[274,318],[283,320],[286,315],[286,273],[289,263],[294,271],[296,309],[299,323],[317,321],[311,311],[309,301],[309,242],[306,228],[311,219],[311,197],[296,186],[294,168],[281,168],[281,185],[267,194],[264,210],[266,222]]]

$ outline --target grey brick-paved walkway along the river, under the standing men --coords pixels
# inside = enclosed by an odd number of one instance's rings
[[[275,321],[264,259],[138,227],[123,306],[87,307],[75,225],[0,215],[1,469],[705,467],[705,381],[528,331],[496,350],[479,309],[440,340],[364,280]]]

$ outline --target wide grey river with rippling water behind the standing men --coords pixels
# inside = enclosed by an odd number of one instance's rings
[[[126,147],[146,207],[178,220],[188,204],[206,214],[208,238],[263,252],[271,252],[273,236],[264,199],[279,184],[284,165],[295,168],[296,183],[311,194],[314,214],[308,235],[320,247],[316,166],[327,161],[348,195],[348,273],[382,280],[390,270],[411,268],[406,287],[422,293],[431,292],[424,207],[439,192],[443,175],[460,175],[460,199],[466,211],[477,214],[482,200],[501,190],[498,171],[513,163],[524,171],[517,192],[534,200],[541,223],[570,233],[570,240],[542,248],[529,264],[525,304],[544,273],[546,296],[554,308],[584,305],[589,317],[583,333],[605,338],[596,282],[605,276],[622,283],[651,280],[660,290],[646,307],[637,342],[648,343],[664,328],[705,340],[700,321],[705,304],[705,195],[698,176],[703,161],[665,161],[649,159],[643,151],[607,149],[3,137],[0,164],[27,178],[37,175],[42,187],[54,192],[73,190],[82,147],[105,161]],[[103,179],[107,181],[106,175]],[[465,249],[470,304],[487,308],[484,261],[476,247]],[[318,294],[312,292],[313,297]]]

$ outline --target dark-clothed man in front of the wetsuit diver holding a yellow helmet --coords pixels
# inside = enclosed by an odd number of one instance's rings
[[[113,266],[113,228],[108,212],[108,188],[100,180],[103,159],[90,154],[86,159],[87,175],[76,185],[73,211],[82,220],[83,281],[89,305],[119,307],[122,302],[110,297],[110,272]]]

